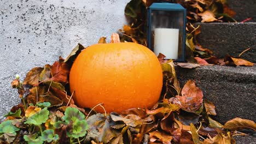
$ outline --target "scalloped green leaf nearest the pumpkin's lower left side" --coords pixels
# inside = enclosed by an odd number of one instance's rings
[[[85,120],[84,114],[74,107],[67,107],[64,115],[65,116],[63,116],[62,119],[65,119],[66,123],[70,123],[71,121],[75,123],[77,121]]]

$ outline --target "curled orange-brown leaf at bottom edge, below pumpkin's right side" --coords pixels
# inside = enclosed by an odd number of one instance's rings
[[[161,142],[165,144],[171,144],[171,140],[173,139],[170,134],[158,130],[150,132],[149,136],[150,142]]]

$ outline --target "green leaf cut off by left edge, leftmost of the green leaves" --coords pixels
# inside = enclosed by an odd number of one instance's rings
[[[8,133],[8,134],[15,134],[15,131],[20,130],[19,128],[15,127],[13,124],[11,124],[11,121],[4,121],[0,124],[0,134],[1,133]]]

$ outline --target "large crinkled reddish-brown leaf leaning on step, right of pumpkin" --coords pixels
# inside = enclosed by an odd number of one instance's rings
[[[195,82],[189,80],[182,89],[182,96],[177,95],[172,103],[185,111],[195,112],[202,106],[202,97],[202,90],[196,87]]]

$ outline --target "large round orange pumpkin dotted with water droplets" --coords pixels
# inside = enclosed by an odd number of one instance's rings
[[[143,45],[95,44],[75,59],[69,85],[79,107],[103,103],[107,112],[149,109],[160,97],[162,69],[158,58]],[[104,112],[102,107],[96,107],[96,111]]]

